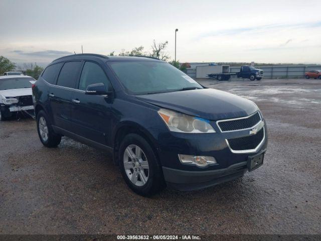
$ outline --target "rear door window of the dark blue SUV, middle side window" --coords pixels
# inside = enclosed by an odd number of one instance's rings
[[[80,61],[66,62],[60,71],[57,85],[75,88],[80,66]]]

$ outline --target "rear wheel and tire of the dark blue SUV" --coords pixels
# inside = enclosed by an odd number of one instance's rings
[[[52,129],[50,119],[45,111],[40,110],[37,114],[37,130],[40,141],[46,147],[57,147],[61,142],[61,135]]]

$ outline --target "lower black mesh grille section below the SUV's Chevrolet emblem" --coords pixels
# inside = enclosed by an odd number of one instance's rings
[[[227,139],[230,148],[234,151],[255,149],[264,138],[264,128],[261,128],[255,135]]]

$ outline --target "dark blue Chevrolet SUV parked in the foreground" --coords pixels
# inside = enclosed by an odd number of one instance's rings
[[[263,164],[266,125],[256,104],[158,59],[62,57],[33,85],[33,98],[45,146],[67,136],[110,152],[141,195],[209,187]]]

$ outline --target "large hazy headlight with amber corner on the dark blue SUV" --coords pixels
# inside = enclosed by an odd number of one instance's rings
[[[159,109],[164,122],[171,132],[183,133],[215,133],[210,121],[200,117],[182,114],[169,109]]]

